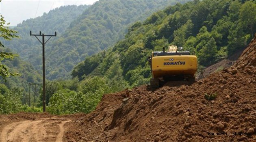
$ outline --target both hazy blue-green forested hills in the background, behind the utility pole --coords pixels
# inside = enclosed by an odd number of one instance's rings
[[[57,32],[46,45],[46,77],[68,78],[73,67],[85,57],[113,45],[124,37],[128,25],[145,19],[167,5],[188,0],[100,0],[92,6],[61,6],[43,16],[28,19],[14,30],[20,39],[6,45],[41,71],[41,45],[30,37]]]

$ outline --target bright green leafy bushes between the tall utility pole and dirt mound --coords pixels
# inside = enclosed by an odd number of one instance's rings
[[[52,114],[89,113],[95,109],[102,95],[110,92],[106,81],[100,77],[82,81],[77,90],[59,88],[50,97],[48,112]]]

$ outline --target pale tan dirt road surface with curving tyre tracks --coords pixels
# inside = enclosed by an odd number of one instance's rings
[[[37,118],[3,125],[0,142],[62,142],[68,118]]]

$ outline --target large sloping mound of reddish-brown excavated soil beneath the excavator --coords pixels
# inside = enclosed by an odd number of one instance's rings
[[[228,69],[189,86],[104,95],[95,111],[68,125],[68,142],[255,142],[256,37]]]

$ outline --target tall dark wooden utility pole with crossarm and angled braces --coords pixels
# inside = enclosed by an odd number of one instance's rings
[[[47,35],[42,34],[41,31],[39,34],[32,34],[30,30],[30,36],[42,36],[42,41],[40,41],[38,38],[37,40],[43,45],[43,112],[46,112],[46,70],[45,70],[45,58],[44,58],[44,45],[50,40],[51,37],[56,37],[57,33],[55,32],[54,35]],[[44,37],[50,37],[46,42],[44,42]]]

